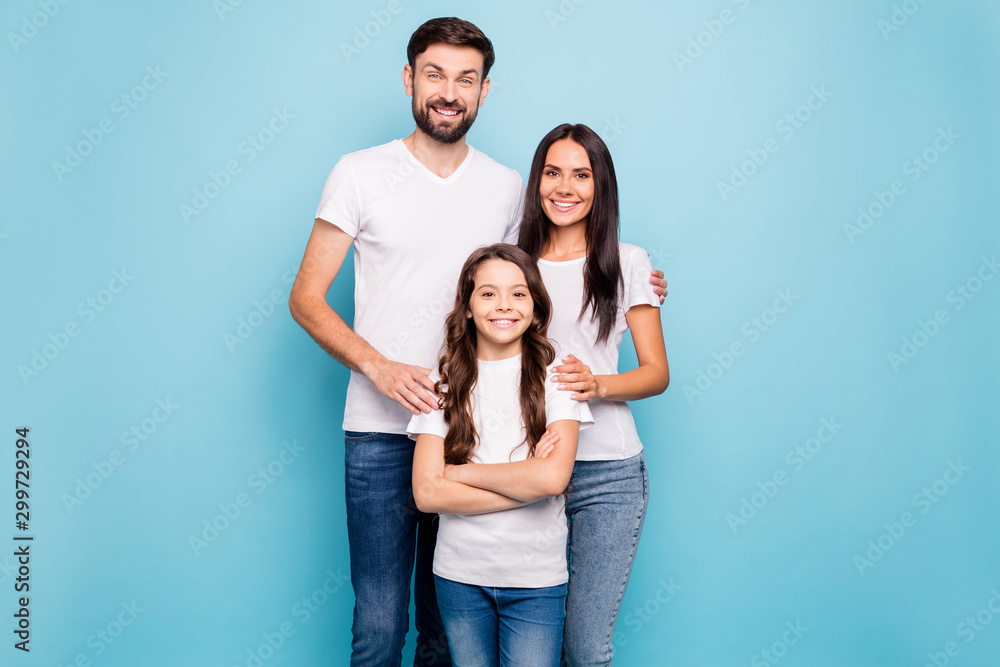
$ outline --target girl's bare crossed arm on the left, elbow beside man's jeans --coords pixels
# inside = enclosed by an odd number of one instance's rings
[[[421,512],[484,514],[528,504],[494,491],[445,479],[444,467],[444,438],[429,433],[419,434],[413,450],[413,499]]]

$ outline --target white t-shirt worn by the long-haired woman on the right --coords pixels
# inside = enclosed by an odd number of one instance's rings
[[[585,298],[583,270],[586,257],[565,262],[538,260],[542,281],[552,298],[549,338],[558,341],[560,358],[573,354],[590,366],[594,375],[618,373],[618,347],[628,329],[625,320],[628,309],[640,304],[660,307],[660,297],[649,282],[652,266],[646,251],[628,243],[619,243],[618,251],[624,282],[618,300],[618,317],[611,335],[601,344],[597,343],[599,323],[591,319],[592,310],[588,309],[583,319],[577,322]],[[621,460],[642,451],[628,403],[598,398],[592,398],[588,403],[594,416],[594,427],[580,433],[578,461]]]

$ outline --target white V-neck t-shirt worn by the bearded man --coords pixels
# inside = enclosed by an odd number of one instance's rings
[[[393,361],[436,368],[462,264],[516,242],[521,177],[468,148],[441,178],[396,139],[344,155],[323,187],[316,217],[354,237],[354,331]],[[344,430],[405,433],[410,414],[351,372]]]

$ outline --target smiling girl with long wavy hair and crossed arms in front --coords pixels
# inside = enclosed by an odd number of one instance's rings
[[[559,664],[568,576],[559,494],[590,413],[546,382],[550,312],[522,250],[474,252],[432,375],[442,409],[407,428],[417,507],[441,514],[435,585],[456,667]]]

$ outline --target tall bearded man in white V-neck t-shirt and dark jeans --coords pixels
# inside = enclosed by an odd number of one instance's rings
[[[465,258],[515,242],[516,171],[465,142],[489,92],[494,52],[457,18],[421,25],[407,46],[414,132],[334,166],[289,298],[295,321],[351,369],[344,412],[347,530],[355,607],[352,665],[398,666],[416,556],[415,665],[450,665],[432,574],[436,524],[411,490],[411,414],[438,408],[429,366]],[[326,303],[354,246],[354,330]],[[662,292],[665,283],[655,281]]]

